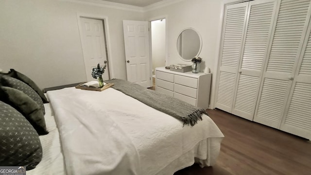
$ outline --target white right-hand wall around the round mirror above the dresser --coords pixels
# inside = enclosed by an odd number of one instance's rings
[[[213,73],[210,105],[214,103],[216,62],[218,61],[218,46],[221,33],[223,0],[183,0],[164,8],[155,9],[145,13],[145,18],[156,18],[167,16],[166,25],[168,28],[168,58],[166,65],[182,63],[191,64],[180,59],[176,49],[178,35],[183,29],[192,27],[202,36],[202,51],[200,57],[201,70],[210,68]]]

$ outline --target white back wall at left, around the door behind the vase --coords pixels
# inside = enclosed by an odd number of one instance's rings
[[[40,88],[86,81],[77,13],[108,17],[114,77],[126,79],[122,20],[142,20],[143,13],[65,0],[0,0],[0,68]]]

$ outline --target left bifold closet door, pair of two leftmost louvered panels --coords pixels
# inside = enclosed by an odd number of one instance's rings
[[[217,108],[253,120],[276,4],[277,0],[254,0],[227,6]],[[233,26],[238,16],[232,12],[238,12],[237,9],[242,9],[239,11],[239,21],[245,25],[240,28]],[[245,16],[242,16],[243,13]],[[239,35],[237,29],[240,30]]]

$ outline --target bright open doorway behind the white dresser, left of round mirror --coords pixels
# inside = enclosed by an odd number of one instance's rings
[[[151,21],[152,45],[152,76],[155,78],[155,68],[164,67],[166,60],[166,20]],[[155,81],[153,81],[155,82]]]

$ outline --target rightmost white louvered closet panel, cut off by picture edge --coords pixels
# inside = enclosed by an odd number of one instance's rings
[[[311,140],[311,25],[280,129]]]

